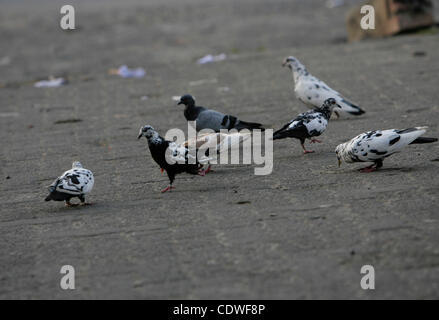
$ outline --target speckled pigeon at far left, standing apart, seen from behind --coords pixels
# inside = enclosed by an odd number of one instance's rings
[[[94,177],[90,170],[84,169],[80,162],[73,162],[72,169],[64,172],[49,186],[46,201],[65,201],[66,206],[75,206],[70,199],[79,198],[81,205],[86,205],[85,195],[93,189]]]

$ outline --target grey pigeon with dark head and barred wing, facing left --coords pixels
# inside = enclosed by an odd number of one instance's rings
[[[203,129],[212,129],[215,132],[219,132],[221,129],[261,129],[264,130],[262,124],[254,122],[245,122],[238,118],[225,115],[221,112],[210,110],[204,107],[196,106],[195,99],[189,94],[186,94],[180,98],[178,105],[185,105],[184,116],[187,121],[196,121],[196,130],[201,131]]]

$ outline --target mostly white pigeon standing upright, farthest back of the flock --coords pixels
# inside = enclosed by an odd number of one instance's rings
[[[310,108],[320,107],[325,100],[334,98],[338,104],[338,107],[334,110],[337,117],[339,117],[340,111],[355,116],[365,113],[359,106],[350,102],[322,80],[310,74],[305,66],[295,57],[286,58],[282,65],[290,68],[293,73],[296,97]]]

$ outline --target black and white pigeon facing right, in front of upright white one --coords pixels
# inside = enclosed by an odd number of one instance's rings
[[[273,140],[296,138],[300,140],[304,154],[313,153],[314,151],[306,150],[305,139],[310,139],[311,143],[321,143],[320,140],[314,137],[318,137],[325,132],[332,111],[337,106],[335,99],[327,99],[320,108],[301,113],[297,118],[277,130],[273,134]]]

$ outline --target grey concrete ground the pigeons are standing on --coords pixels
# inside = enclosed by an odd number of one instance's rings
[[[371,129],[439,136],[435,32],[348,44],[352,1],[118,2],[73,1],[78,29],[67,32],[63,1],[0,1],[0,298],[439,298],[439,144],[373,174],[339,169],[334,155]],[[161,194],[167,178],[139,128],[185,129],[172,100],[183,93],[278,128],[306,110],[281,68],[288,55],[366,115],[331,121],[312,155],[276,141],[271,175],[216,166]],[[107,74],[121,64],[147,75]],[[69,84],[33,87],[49,75]],[[95,173],[93,205],[44,202],[74,160]],[[373,291],[360,288],[366,264]],[[75,267],[74,291],[60,289],[63,265]]]

